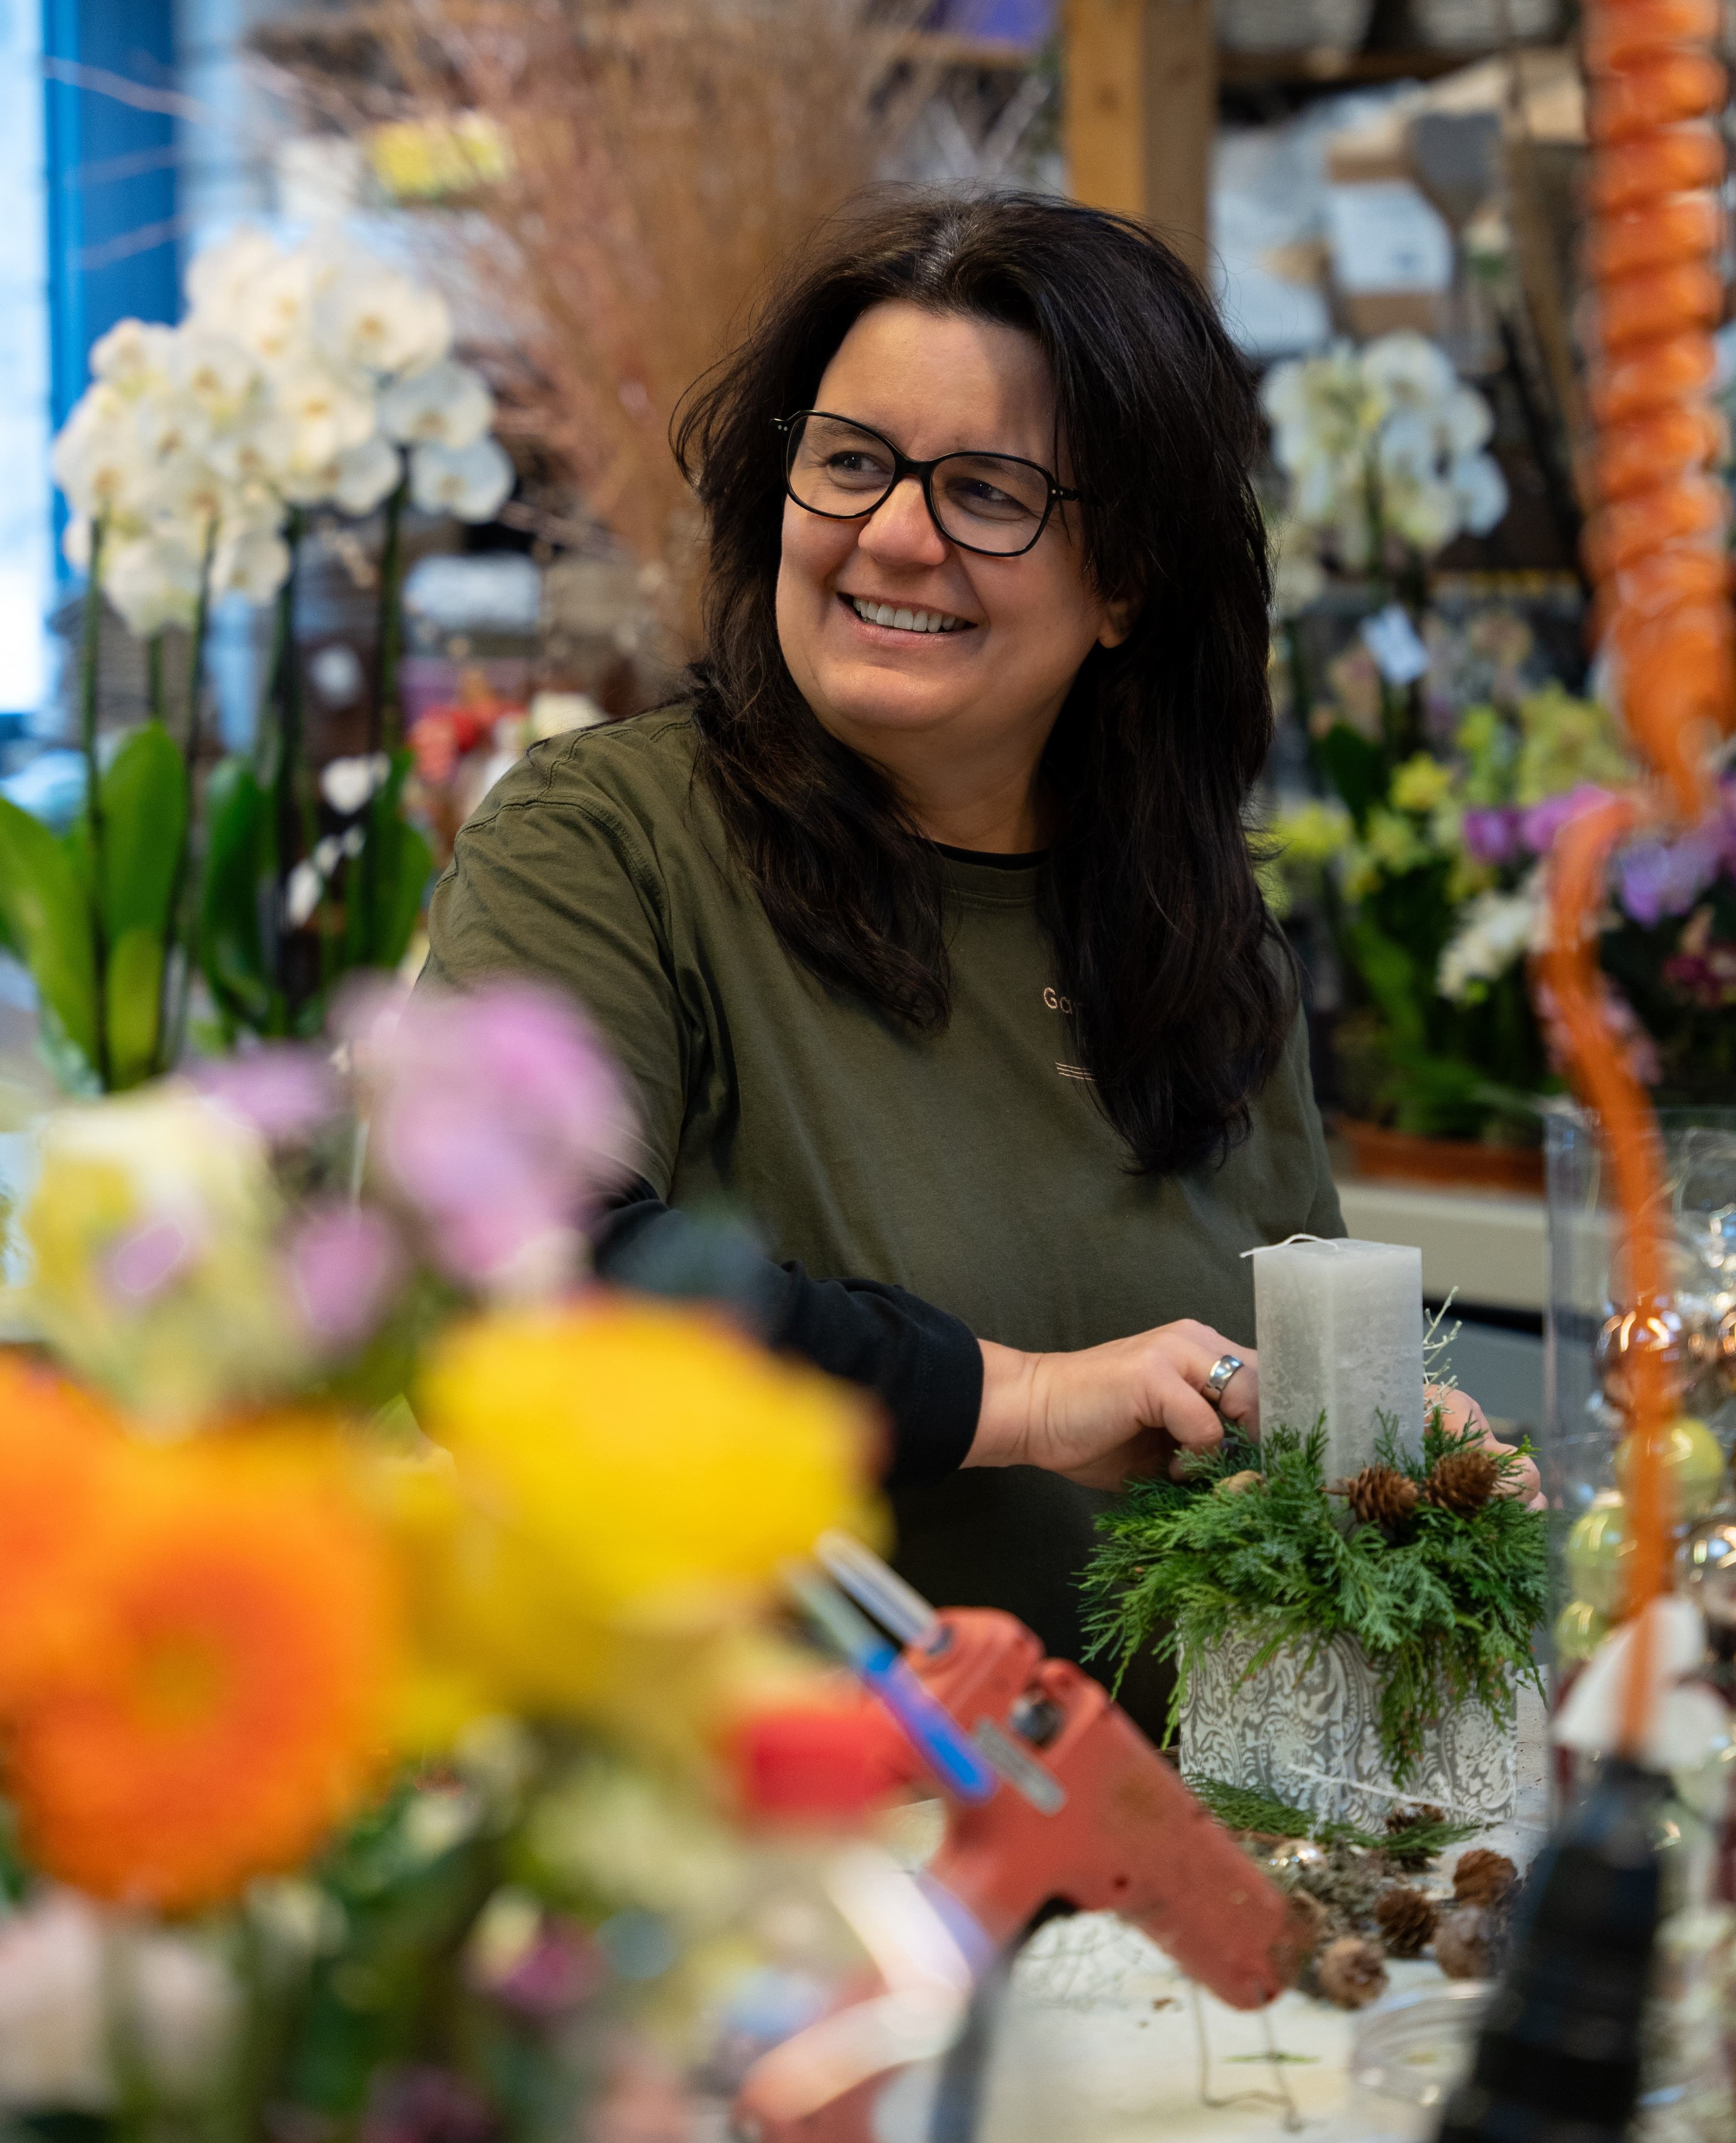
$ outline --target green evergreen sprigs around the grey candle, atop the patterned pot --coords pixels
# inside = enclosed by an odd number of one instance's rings
[[[1404,1787],[1451,1706],[1477,1699],[1511,1725],[1520,1680],[1541,1689],[1530,1637],[1547,1601],[1547,1526],[1498,1492],[1466,1515],[1421,1504],[1406,1537],[1389,1541],[1327,1494],[1325,1449],[1325,1425],[1271,1429],[1260,1444],[1226,1434],[1183,1481],[1129,1489],[1097,1522],[1102,1545],[1084,1571],[1093,1657],[1123,1674],[1144,1648],[1174,1661],[1174,1727],[1192,1672],[1226,1639],[1254,1639],[1254,1676],[1286,1646],[1314,1659],[1350,1637],[1380,1682],[1380,1749]],[[1393,1423],[1376,1459],[1421,1485],[1468,1449],[1483,1449],[1479,1432],[1447,1429],[1436,1410],[1421,1459]],[[1517,1466],[1517,1455],[1500,1459],[1498,1489]],[[1260,1485],[1213,1494],[1249,1468]]]

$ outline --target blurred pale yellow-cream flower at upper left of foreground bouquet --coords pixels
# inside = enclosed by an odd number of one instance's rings
[[[184,1421],[302,1367],[272,1254],[270,1155],[251,1125],[163,1080],[54,1110],[36,1138],[24,1307],[79,1376]]]

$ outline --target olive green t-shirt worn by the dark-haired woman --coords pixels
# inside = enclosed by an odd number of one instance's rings
[[[1301,1022],[1222,1166],[1138,1177],[1074,1061],[1042,861],[945,861],[952,1018],[913,1035],[810,975],[729,857],[686,714],[536,746],[459,834],[429,971],[529,969],[592,1011],[639,1089],[639,1172],[746,1209],[776,1260],[870,1279],[1027,1350],[1200,1318],[1254,1342],[1243,1252],[1342,1234]],[[1106,1496],[1033,1468],[896,1498],[900,1564],[1078,1657],[1074,1575]]]

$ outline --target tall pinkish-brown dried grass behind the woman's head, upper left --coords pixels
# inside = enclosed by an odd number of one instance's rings
[[[487,124],[450,219],[499,321],[512,429],[692,628],[701,527],[669,450],[682,394],[739,339],[814,223],[887,167],[932,77],[913,15],[864,0],[384,0],[399,109]],[[369,99],[379,116],[379,92]],[[772,441],[767,441],[767,452]]]

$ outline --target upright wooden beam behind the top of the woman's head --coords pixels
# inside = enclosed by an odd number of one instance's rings
[[[1211,0],[1067,0],[1063,19],[1074,197],[1144,219],[1202,270],[1217,126]]]

